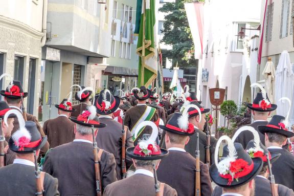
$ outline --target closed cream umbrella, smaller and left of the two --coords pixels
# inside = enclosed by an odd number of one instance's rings
[[[272,61],[267,61],[265,64],[265,68],[262,72],[262,75],[265,78],[265,91],[267,93],[267,97],[270,103],[276,103],[275,97],[275,77],[276,70],[274,63]]]

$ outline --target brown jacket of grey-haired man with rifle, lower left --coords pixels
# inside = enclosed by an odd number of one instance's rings
[[[93,144],[71,142],[52,148],[44,161],[43,171],[59,181],[60,195],[96,195]],[[117,181],[116,162],[103,151],[100,175],[103,189]]]

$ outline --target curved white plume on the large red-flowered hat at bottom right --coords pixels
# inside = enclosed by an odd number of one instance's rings
[[[229,156],[221,160],[221,162],[226,161],[228,159],[230,161],[235,161],[237,156],[237,151],[231,138],[229,138],[228,136],[221,136],[216,143],[215,154],[214,154],[214,163],[218,170],[220,169],[219,163],[218,163],[218,151],[219,151],[219,146],[223,140],[227,141],[228,143]]]

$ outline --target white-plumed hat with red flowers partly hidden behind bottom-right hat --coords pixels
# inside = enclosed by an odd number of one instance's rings
[[[232,138],[232,141],[235,142],[236,138],[242,133],[242,132],[251,132],[254,136],[253,140],[250,140],[247,143],[246,146],[246,152],[250,155],[251,158],[260,157],[263,162],[267,162],[266,155],[269,155],[269,160],[271,163],[276,161],[281,154],[280,153],[269,153],[269,151],[266,149],[266,147],[261,143],[259,133],[257,130],[252,126],[242,126],[240,127],[236,133],[234,134],[234,137]]]

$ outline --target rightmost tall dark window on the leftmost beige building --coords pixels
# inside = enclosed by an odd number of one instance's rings
[[[30,58],[28,79],[27,113],[34,114],[34,96],[36,79],[36,59]]]

